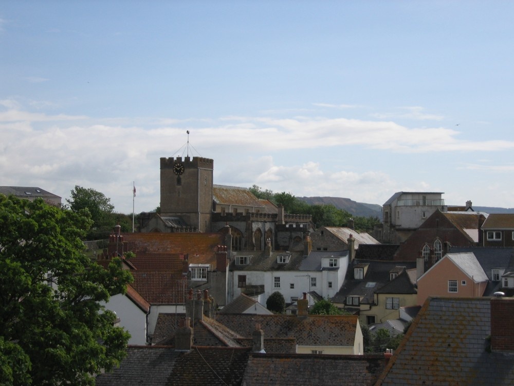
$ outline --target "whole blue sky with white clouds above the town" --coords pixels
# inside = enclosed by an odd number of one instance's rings
[[[1,185],[159,205],[214,182],[514,207],[514,2],[3,1]]]

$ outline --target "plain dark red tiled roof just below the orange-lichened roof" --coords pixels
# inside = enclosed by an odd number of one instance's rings
[[[167,271],[132,271],[132,287],[150,304],[184,304],[187,276]]]

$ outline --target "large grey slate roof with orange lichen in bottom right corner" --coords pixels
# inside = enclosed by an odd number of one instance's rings
[[[432,297],[377,385],[514,384],[514,355],[489,352],[490,299]]]

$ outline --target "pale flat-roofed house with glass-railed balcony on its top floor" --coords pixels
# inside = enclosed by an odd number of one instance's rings
[[[382,205],[375,237],[386,243],[405,241],[437,209],[447,212],[442,192],[399,191]]]

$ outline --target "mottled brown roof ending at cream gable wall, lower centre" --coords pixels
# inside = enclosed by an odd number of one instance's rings
[[[251,337],[255,324],[260,324],[265,337],[296,338],[299,345],[305,346],[347,347],[354,345],[358,317],[219,313],[216,320],[244,337]]]

